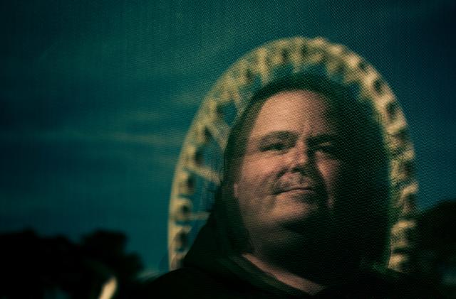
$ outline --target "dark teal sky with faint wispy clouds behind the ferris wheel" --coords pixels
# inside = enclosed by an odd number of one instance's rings
[[[277,38],[347,45],[392,87],[420,208],[456,198],[454,1],[0,4],[0,231],[128,235],[156,271],[180,146],[204,94]]]

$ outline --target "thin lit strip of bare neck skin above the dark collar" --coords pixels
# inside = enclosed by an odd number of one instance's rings
[[[254,256],[253,254],[244,254],[243,256],[248,261],[257,266],[261,271],[271,274],[278,281],[281,281],[282,283],[285,283],[286,285],[296,288],[298,290],[302,290],[306,293],[309,293],[310,295],[314,295],[318,293],[320,290],[323,290],[323,288],[326,288],[326,286],[322,284],[310,281],[309,279],[292,273],[291,271],[288,271],[285,268],[275,266],[271,263],[266,263],[261,259],[258,259],[257,256]]]

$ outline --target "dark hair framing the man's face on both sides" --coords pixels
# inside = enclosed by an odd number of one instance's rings
[[[371,102],[356,97],[357,90],[320,75],[298,74],[284,77],[259,89],[234,122],[227,146],[224,150],[221,184],[216,192],[214,210],[233,210],[226,217],[236,217],[239,213],[233,206],[232,185],[239,173],[240,161],[244,156],[247,140],[254,121],[263,104],[274,94],[285,91],[308,90],[323,95],[343,130],[345,158],[352,166],[347,176],[347,197],[341,210],[345,217],[344,226],[353,235],[353,254],[358,252],[360,259],[368,266],[385,265],[389,251],[390,202],[393,198],[390,182],[390,155],[385,144],[383,126]],[[348,198],[350,196],[350,198]],[[351,200],[348,202],[348,199]],[[230,219],[228,219],[230,220]],[[232,239],[239,251],[246,249],[248,240],[242,229],[232,221]]]

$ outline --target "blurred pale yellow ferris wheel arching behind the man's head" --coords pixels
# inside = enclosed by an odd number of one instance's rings
[[[366,60],[324,38],[286,38],[266,43],[237,60],[215,82],[190,126],[175,167],[168,217],[170,270],[182,259],[204,225],[219,185],[219,168],[227,136],[237,114],[269,82],[296,73],[324,75],[356,87],[360,101],[371,101],[380,115],[390,159],[390,178],[398,190],[393,205],[398,220],[392,229],[389,268],[406,271],[413,248],[415,222],[415,152],[400,105],[388,84]],[[410,237],[412,236],[412,237]]]

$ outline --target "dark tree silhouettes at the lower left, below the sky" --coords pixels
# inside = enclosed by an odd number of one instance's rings
[[[98,298],[108,279],[116,298],[128,298],[142,269],[125,254],[120,232],[98,231],[74,244],[65,237],[38,237],[33,230],[0,235],[0,298]]]

